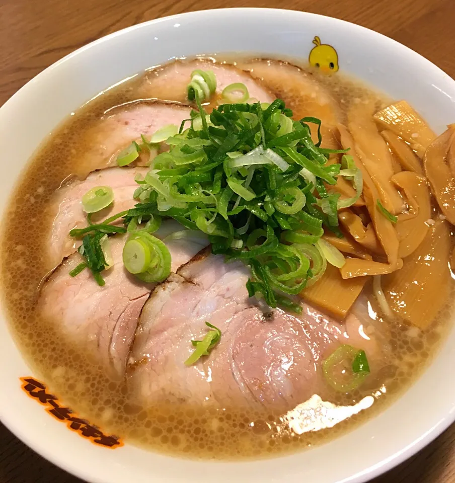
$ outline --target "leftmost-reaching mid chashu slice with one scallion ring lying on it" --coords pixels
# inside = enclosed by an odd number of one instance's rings
[[[114,192],[114,202],[92,216],[93,223],[100,223],[120,211],[134,207],[137,201],[133,194],[139,186],[134,179],[137,175],[144,177],[147,171],[147,168],[139,167],[109,168],[95,171],[83,181],[73,179],[60,187],[53,194],[49,205],[51,224],[46,268],[53,269],[81,245],[81,240],[69,236],[69,231],[87,226],[87,213],[82,209],[81,202],[87,191],[96,186],[109,186]]]

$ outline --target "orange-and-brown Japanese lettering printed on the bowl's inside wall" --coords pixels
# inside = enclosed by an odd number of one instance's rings
[[[92,443],[106,448],[120,448],[123,442],[116,436],[106,436],[99,428],[88,421],[78,418],[69,408],[58,403],[57,396],[49,394],[46,386],[33,377],[21,377],[22,389],[46,407],[46,411],[59,421],[65,422],[71,431],[79,433],[83,438],[89,439]]]

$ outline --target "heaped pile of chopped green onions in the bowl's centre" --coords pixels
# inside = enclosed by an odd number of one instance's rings
[[[189,230],[205,233],[213,253],[250,267],[250,296],[262,295],[270,307],[279,304],[299,312],[299,304],[288,296],[318,280],[327,261],[338,267],[344,263],[321,236],[324,229],[342,236],[338,209],[360,196],[361,172],[347,155],[341,164],[327,165],[330,153],[346,150],[321,148],[320,120],[293,121],[280,99],[270,105],[223,104],[207,115],[198,93],[194,85],[199,109],[178,132],[166,126],[152,136],[155,142],[166,139],[170,150],[155,157],[144,179],[136,179],[135,208],[70,234],[84,235],[80,252],[98,283],[103,283],[101,272],[107,266],[99,246],[102,236],[125,231],[131,233],[123,252],[126,268],[142,280],[161,281],[169,275],[170,255],[150,233],[162,218],[174,218]],[[309,123],[318,126],[316,144]],[[133,142],[119,154],[119,164],[130,164],[154,145],[152,140],[142,136],[142,143]],[[354,198],[340,200],[330,190],[338,176],[352,181]],[[108,193],[100,188],[90,195],[95,196],[91,203],[104,207]],[[119,217],[124,227],[110,224]]]

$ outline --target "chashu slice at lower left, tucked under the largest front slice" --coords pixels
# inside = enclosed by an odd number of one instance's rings
[[[182,229],[174,220],[164,221],[154,234],[162,238]],[[97,360],[118,376],[124,373],[142,306],[155,286],[124,268],[126,238],[127,234],[109,238],[113,266],[102,273],[104,286],[97,284],[88,269],[75,277],[69,275],[83,261],[76,252],[44,282],[38,301],[42,316],[60,327],[62,336],[94,352]],[[173,239],[166,245],[172,257],[171,268],[176,271],[204,247],[204,241]]]

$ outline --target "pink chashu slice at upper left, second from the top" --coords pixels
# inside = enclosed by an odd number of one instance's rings
[[[87,176],[91,171],[116,166],[118,153],[132,141],[141,142],[141,134],[149,138],[169,124],[179,128],[184,119],[190,118],[190,112],[187,106],[164,102],[136,102],[108,111],[85,133],[82,142],[87,148],[75,168],[76,174]],[[149,164],[159,150],[142,153],[135,163]]]

